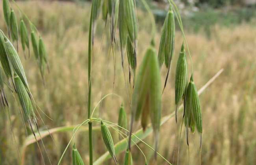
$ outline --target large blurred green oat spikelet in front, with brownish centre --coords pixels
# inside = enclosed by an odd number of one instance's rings
[[[146,102],[148,102],[149,105],[144,106]],[[156,50],[152,47],[147,49],[136,78],[134,93],[132,96],[131,123],[133,123],[134,119],[136,121],[139,119],[144,107],[148,107],[149,109],[148,111],[154,132],[155,151],[157,151],[161,120],[161,76]],[[147,116],[142,115],[141,117],[145,118]]]

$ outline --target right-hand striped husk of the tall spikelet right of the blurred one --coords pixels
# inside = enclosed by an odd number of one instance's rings
[[[174,41],[175,41],[175,20],[173,10],[168,12],[166,22],[166,37],[165,37],[165,66],[169,68],[174,53]]]

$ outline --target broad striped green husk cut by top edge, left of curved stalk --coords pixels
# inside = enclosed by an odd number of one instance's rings
[[[124,15],[126,20],[126,26],[128,30],[128,35],[133,44],[136,44],[137,40],[137,17],[134,0],[122,0],[124,1]],[[136,45],[135,45],[136,46]]]

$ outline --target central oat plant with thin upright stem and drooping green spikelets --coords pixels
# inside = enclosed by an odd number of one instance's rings
[[[143,57],[143,61],[141,62],[139,66],[139,70],[136,73],[137,69],[137,44],[139,43],[139,40],[137,39],[138,35],[138,23],[137,22],[137,13],[136,13],[136,4],[134,0],[103,0],[101,2],[100,0],[93,0],[92,1],[92,7],[91,7],[91,21],[90,21],[90,27],[89,27],[89,47],[88,47],[88,84],[89,84],[89,94],[88,94],[88,119],[83,121],[80,125],[77,125],[73,132],[74,139],[76,132],[80,129],[80,127],[84,126],[85,124],[89,125],[89,164],[90,165],[97,165],[102,163],[105,159],[112,157],[115,161],[115,164],[118,164],[117,160],[117,154],[119,154],[122,150],[126,150],[124,155],[124,164],[132,164],[132,146],[136,145],[137,142],[141,141],[145,145],[147,145],[149,148],[154,150],[156,160],[157,155],[159,155],[161,158],[161,154],[157,152],[158,148],[158,139],[159,137],[159,131],[160,126],[163,124],[167,117],[163,117],[161,120],[161,97],[162,92],[167,85],[168,76],[171,70],[171,63],[174,56],[174,40],[175,40],[175,18],[178,21],[178,25],[182,31],[184,44],[182,44],[182,48],[180,51],[180,55],[178,58],[178,63],[176,67],[176,78],[175,78],[175,116],[176,121],[178,122],[178,110],[181,110],[180,103],[183,102],[184,105],[187,105],[186,100],[187,99],[187,88],[188,88],[188,67],[187,67],[187,56],[186,56],[186,50],[188,50],[188,55],[191,60],[190,51],[188,49],[188,44],[186,41],[186,37],[184,34],[183,26],[182,26],[182,20],[180,17],[180,14],[178,12],[178,8],[174,4],[172,0],[169,1],[170,9],[167,13],[163,28],[162,28],[162,36],[161,36],[161,42],[160,42],[160,49],[158,51],[158,56],[156,53],[156,49],[154,48],[155,42],[154,42],[154,36],[155,36],[155,22],[154,22],[154,16],[152,12],[150,11],[150,7],[147,5],[147,2],[145,0],[142,0],[144,7],[147,9],[148,14],[152,18],[152,39],[150,40],[150,46],[147,49],[145,56]],[[102,7],[100,7],[102,5]],[[130,128],[127,129],[127,116],[126,112],[123,110],[122,106],[119,110],[119,121],[118,124],[115,124],[110,121],[106,121],[100,118],[100,116],[95,118],[93,116],[94,111],[98,104],[108,97],[109,95],[115,95],[115,94],[108,94],[99,101],[99,103],[96,105],[94,110],[91,112],[91,99],[92,99],[92,92],[91,92],[91,86],[92,86],[92,75],[91,70],[92,68],[92,58],[93,58],[93,44],[94,44],[94,33],[96,28],[96,20],[98,19],[98,15],[100,13],[100,9],[102,9],[102,20],[104,20],[104,23],[107,23],[107,20],[109,18],[110,20],[110,40],[111,43],[111,49],[116,49],[116,44],[120,46],[120,54],[121,54],[121,67],[124,69],[124,62],[126,62],[124,59],[124,49],[126,48],[126,54],[127,54],[127,63],[128,63],[128,69],[129,69],[129,82],[131,79],[131,72],[133,73],[133,79],[134,79],[134,87],[130,88],[130,93],[132,95],[129,95],[130,98],[130,108],[131,108],[131,117],[130,117]],[[118,20],[117,20],[118,19]],[[119,37],[116,37],[115,31],[116,31],[116,22],[118,22],[118,29],[119,29]],[[106,25],[105,25],[106,27]],[[119,39],[119,40],[118,40]],[[113,51],[114,52],[114,51]],[[116,51],[115,51],[116,52]],[[113,53],[114,54],[114,53]],[[115,61],[115,58],[114,58]],[[161,65],[165,63],[165,66],[167,68],[167,76],[165,79],[164,87],[161,86],[161,76],[160,76],[160,68]],[[191,74],[193,75],[193,63],[191,60]],[[131,71],[131,72],[130,72]],[[126,86],[126,85],[125,85]],[[126,86],[127,88],[127,86]],[[198,99],[198,93],[195,88],[193,87],[193,95],[191,100],[191,104],[189,104],[189,107],[191,107],[189,110],[189,124],[187,121],[187,111],[185,111],[185,123],[186,127],[191,128],[191,130],[194,130],[196,127],[198,132],[202,135],[202,118],[201,118],[201,110],[200,110],[200,102]],[[190,102],[189,102],[190,103]],[[189,109],[188,107],[184,108],[185,110]],[[192,113],[193,112],[193,113]],[[193,114],[193,115],[192,115]],[[173,114],[171,115],[173,116]],[[133,123],[135,121],[141,122],[142,130],[139,130],[138,132],[133,133]],[[183,119],[182,119],[183,121]],[[92,137],[93,137],[93,127],[92,123],[101,123],[101,130],[102,130],[102,138],[104,140],[104,143],[106,145],[106,148],[108,149],[108,153],[104,154],[106,156],[100,157],[97,159],[94,163],[93,159],[93,143],[92,143]],[[121,141],[117,143],[117,145],[114,145],[114,141],[111,136],[111,132],[109,131],[109,128],[112,128],[115,132],[119,134],[119,137],[121,137]],[[115,128],[117,127],[117,128]],[[124,133],[127,132],[128,134]],[[147,143],[143,141],[144,138],[146,138],[151,132],[154,132],[154,139],[155,139],[155,145],[154,148],[150,147]],[[188,135],[188,134],[187,134]],[[202,136],[201,136],[202,137]],[[72,139],[70,139],[69,144],[67,145],[65,151],[63,152],[63,155],[61,156],[61,159],[59,160],[59,163],[61,163],[61,160],[67,151],[67,148],[69,147]],[[202,138],[201,138],[202,141]],[[202,143],[200,143],[202,144]],[[201,145],[200,145],[201,146]],[[163,158],[165,159],[165,158]],[[167,161],[165,159],[165,161]],[[147,164],[147,159],[145,159],[145,163]],[[171,164],[169,161],[167,163]]]

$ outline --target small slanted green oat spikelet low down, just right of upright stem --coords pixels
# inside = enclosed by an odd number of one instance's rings
[[[106,147],[108,148],[109,154],[114,159],[115,164],[118,165],[117,158],[115,156],[115,147],[114,147],[113,138],[110,134],[110,131],[109,131],[108,127],[102,121],[100,122],[100,130],[101,130],[101,133],[102,133],[103,141],[104,141]]]

